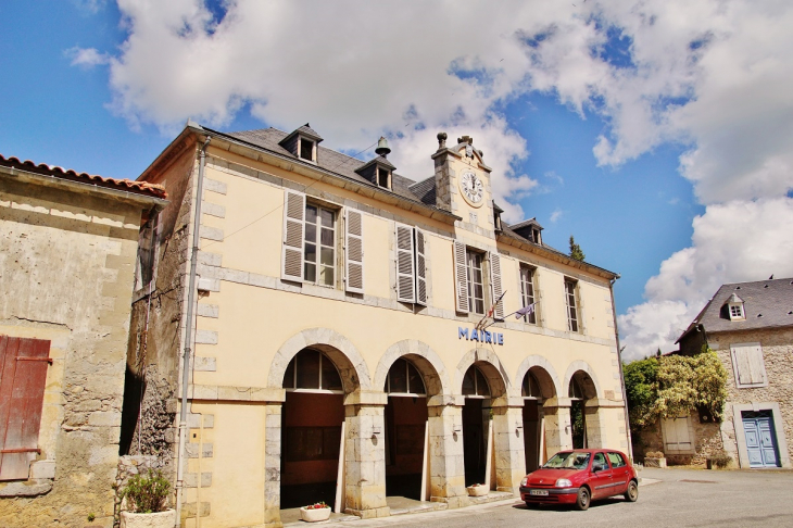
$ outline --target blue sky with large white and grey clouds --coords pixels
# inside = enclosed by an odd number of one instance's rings
[[[793,277],[791,27],[788,0],[2,0],[0,153],[136,178],[188,118],[310,122],[420,180],[469,135],[506,222],[621,275],[630,361]]]

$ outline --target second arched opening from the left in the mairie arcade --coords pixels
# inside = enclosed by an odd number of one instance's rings
[[[386,405],[386,495],[421,500],[427,388],[424,377],[405,357],[388,370]]]

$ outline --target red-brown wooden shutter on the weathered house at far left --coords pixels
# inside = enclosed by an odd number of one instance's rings
[[[36,460],[50,341],[0,336],[0,480],[27,479]]]

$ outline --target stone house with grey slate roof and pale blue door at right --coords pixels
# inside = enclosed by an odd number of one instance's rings
[[[740,467],[791,467],[793,279],[723,285],[677,342],[681,354],[717,352],[728,399],[720,424],[696,412],[663,420],[667,455],[723,449]]]

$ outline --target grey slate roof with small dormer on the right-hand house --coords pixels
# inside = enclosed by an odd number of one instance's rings
[[[733,294],[743,300],[745,319],[730,320],[723,310]],[[677,342],[698,325],[707,334],[793,326],[793,278],[723,285]]]

